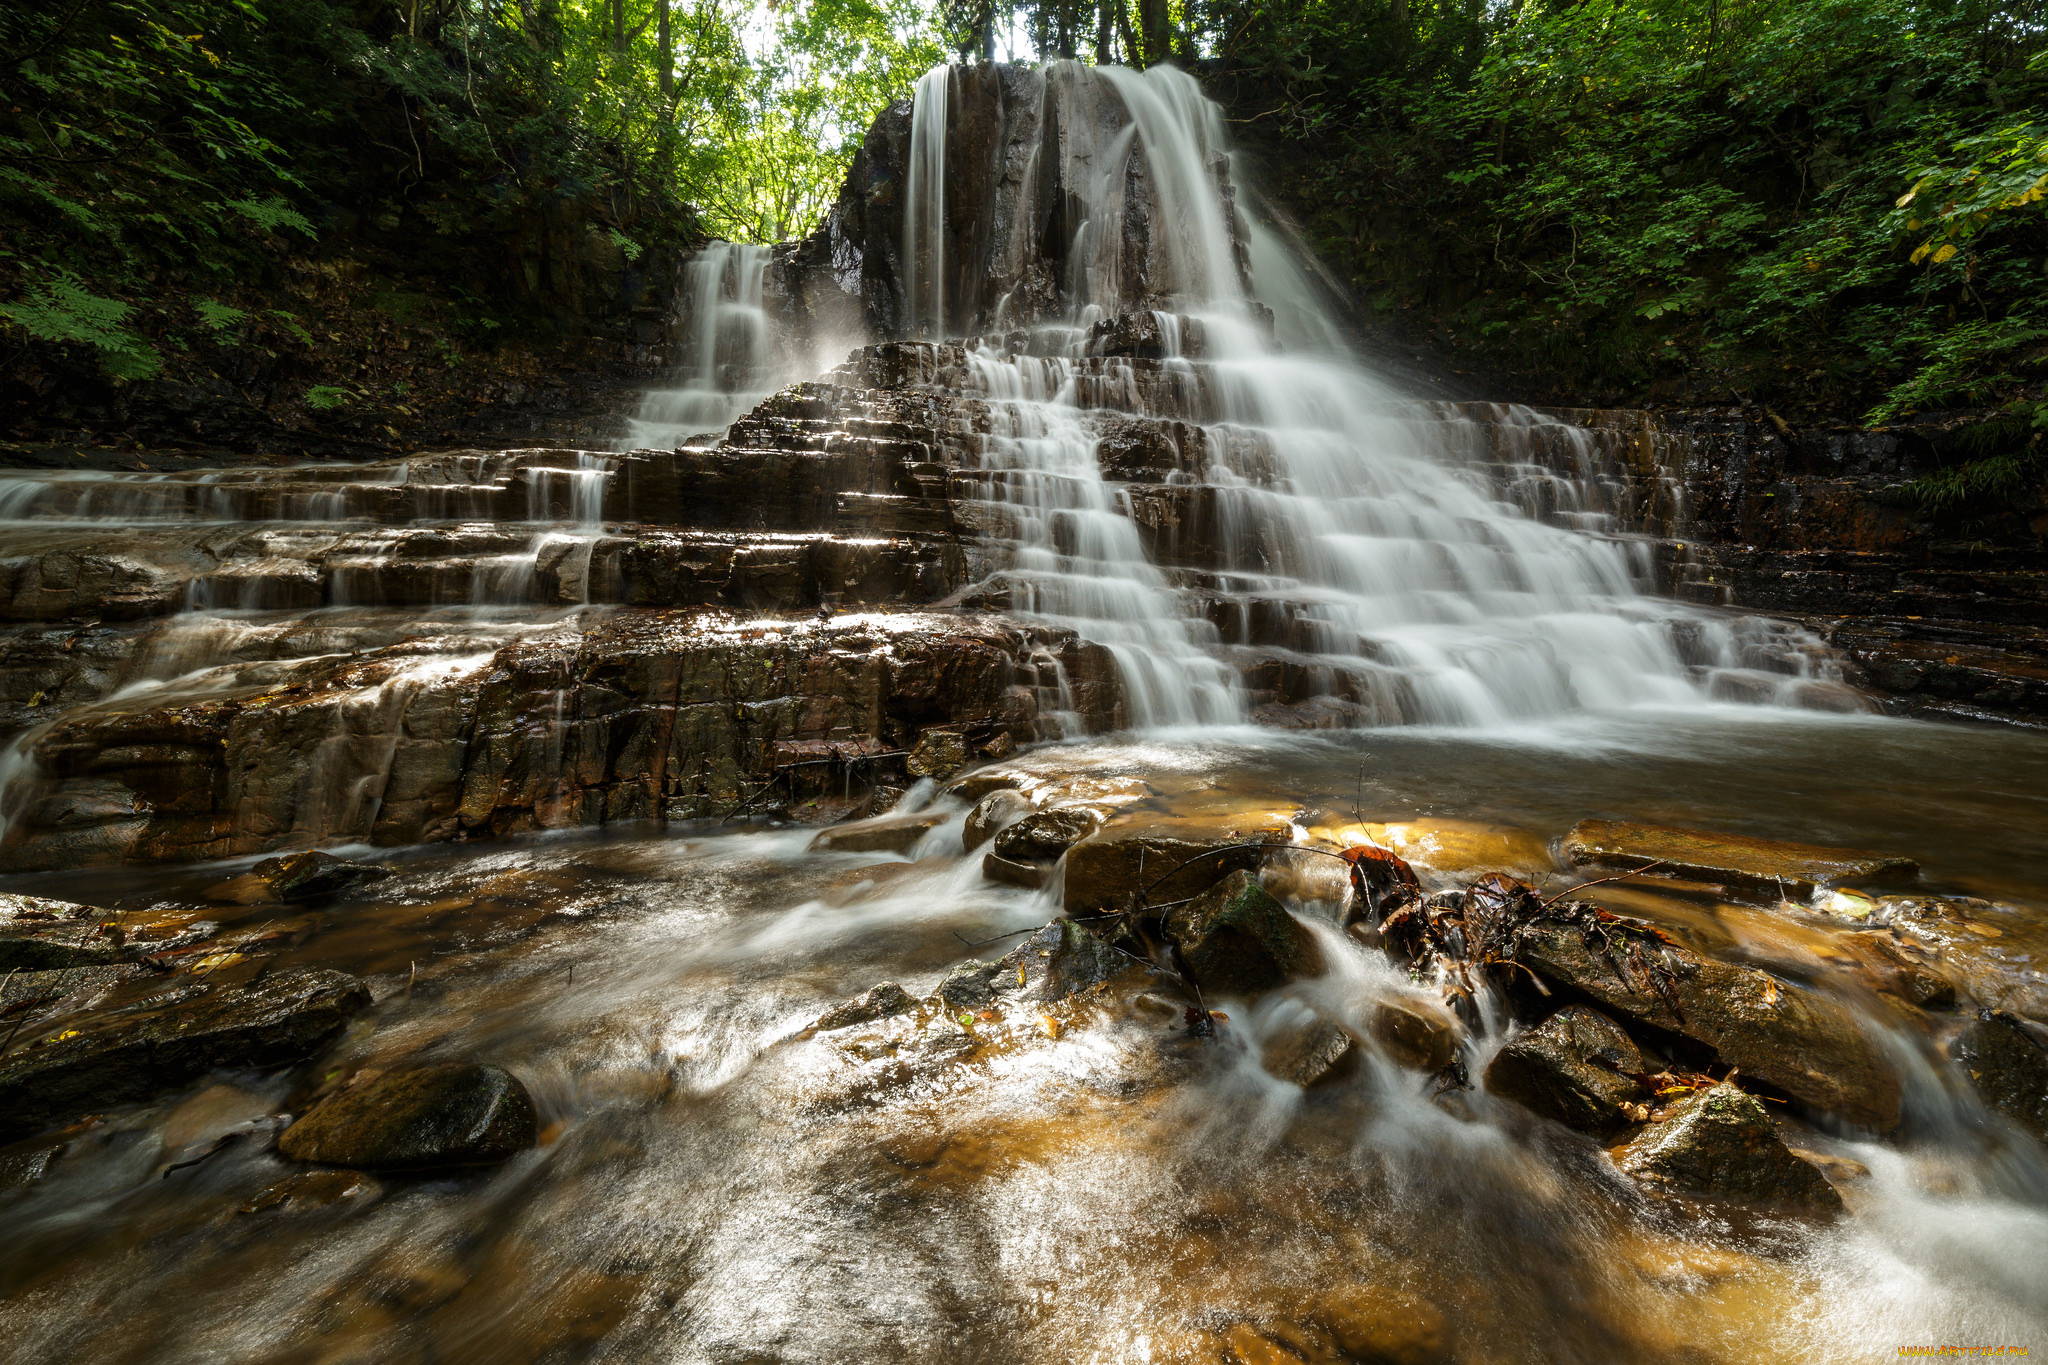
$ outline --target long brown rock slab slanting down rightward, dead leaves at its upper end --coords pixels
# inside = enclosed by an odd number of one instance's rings
[[[1520,962],[1599,1007],[1712,1048],[1815,1109],[1886,1132],[1898,1074],[1845,1005],[1769,972],[1714,962],[1647,923],[1567,902],[1522,929]]]

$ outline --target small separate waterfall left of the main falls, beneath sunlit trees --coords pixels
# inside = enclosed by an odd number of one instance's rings
[[[676,389],[641,399],[625,450],[670,450],[723,432],[776,387],[764,284],[768,248],[713,241],[690,262],[682,315],[686,342]]]

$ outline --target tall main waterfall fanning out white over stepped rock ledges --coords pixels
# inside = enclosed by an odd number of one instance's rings
[[[952,80],[956,68],[920,80],[911,115],[913,334],[958,317],[999,323],[1010,307],[977,311],[944,291],[942,186],[965,174],[944,168]],[[1065,315],[1040,317],[1024,346],[969,342],[967,391],[993,413],[983,487],[1016,536],[989,587],[1108,645],[1133,722],[1243,716],[1251,696],[1219,661],[1243,655],[1251,667],[1253,647],[1327,677],[1364,724],[1686,704],[1716,673],[1759,661],[1792,671],[1765,673],[1749,696],[1798,690],[1800,651],[1751,649],[1769,632],[1647,596],[1624,540],[1526,516],[1479,452],[1458,448],[1456,428],[1417,422],[1333,346],[1337,323],[1298,252],[1237,205],[1221,111],[1190,76],[1053,63],[1040,100],[1063,115],[1061,164],[1034,160],[1032,174],[1069,196],[1071,239],[1038,244],[1067,260]],[[1118,315],[1130,325],[1133,313],[1155,364],[1085,354],[1090,327]],[[1196,485],[1190,497],[1217,522],[1208,563],[1147,553],[1128,493],[1094,450],[1106,407],[1200,430],[1194,467],[1176,479]],[[1278,636],[1249,628],[1274,616],[1288,622]]]

